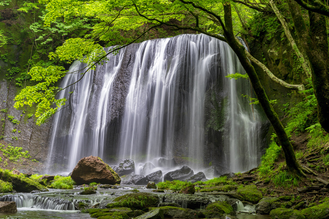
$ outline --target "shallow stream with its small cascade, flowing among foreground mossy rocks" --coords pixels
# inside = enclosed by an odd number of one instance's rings
[[[80,189],[49,189],[48,192],[38,193],[7,193],[0,197],[0,201],[16,202],[17,213],[0,213],[0,218],[91,218],[89,214],[76,210],[75,206],[82,202],[89,207],[98,205],[98,208],[105,208],[106,204],[112,202],[116,197],[132,192],[133,189],[138,189],[140,192],[152,191],[152,189],[145,189],[144,186],[119,186],[117,189],[99,188],[97,193],[92,195],[81,195],[79,194],[82,191]],[[168,193],[157,194],[165,195]],[[253,207],[244,208],[240,201],[239,203],[237,204],[237,211],[254,210]],[[269,215],[239,212],[237,212],[236,217],[239,219],[270,218]]]

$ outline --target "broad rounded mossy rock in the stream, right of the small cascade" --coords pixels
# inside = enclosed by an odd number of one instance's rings
[[[157,195],[147,192],[129,193],[114,199],[115,203],[109,203],[106,208],[127,207],[132,209],[144,209],[155,207],[159,203]]]

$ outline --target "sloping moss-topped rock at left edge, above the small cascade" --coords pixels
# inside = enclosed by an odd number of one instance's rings
[[[13,189],[17,192],[32,192],[33,190],[48,191],[48,189],[42,186],[39,182],[33,181],[23,175],[15,175],[6,171],[0,170],[0,179],[10,182]]]

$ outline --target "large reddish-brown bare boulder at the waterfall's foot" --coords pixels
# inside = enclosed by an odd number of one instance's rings
[[[72,171],[71,178],[77,185],[97,182],[100,184],[120,184],[121,178],[99,157],[89,156],[79,160]]]

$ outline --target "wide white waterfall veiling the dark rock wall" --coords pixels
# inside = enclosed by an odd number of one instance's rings
[[[49,172],[70,172],[90,155],[108,162],[175,158],[196,170],[209,162],[232,172],[257,167],[260,111],[241,97],[252,96],[248,80],[225,78],[245,74],[226,43],[184,34],[107,59],[60,93],[68,103],[53,120]],[[79,80],[83,67],[74,62],[61,87]]]

